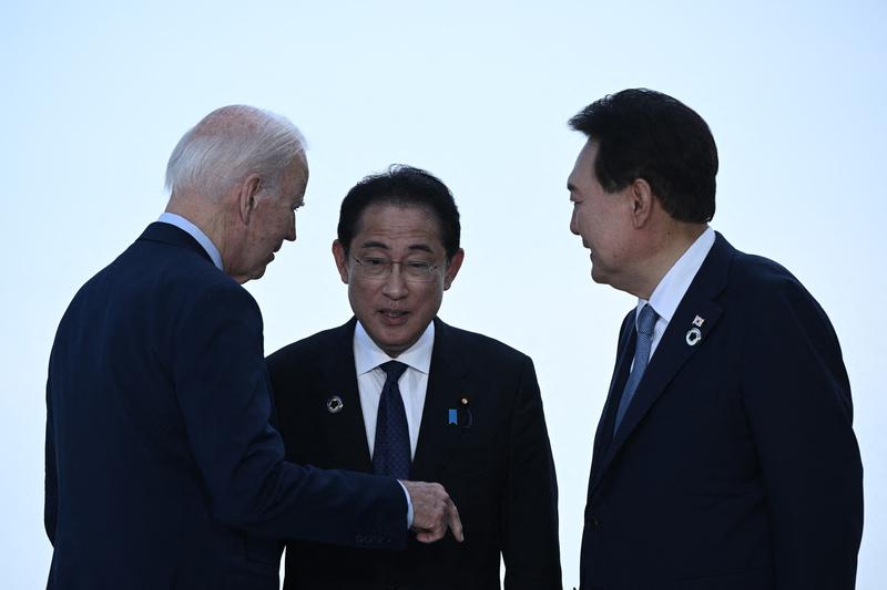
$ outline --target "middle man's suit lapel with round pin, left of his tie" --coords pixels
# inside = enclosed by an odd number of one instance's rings
[[[356,324],[357,320],[351,318],[334,331],[329,350],[320,359],[323,369],[316,403],[318,421],[327,441],[329,464],[341,469],[373,473],[354,364]],[[341,411],[335,414],[327,408],[327,402],[334,395],[338,395],[343,404]]]

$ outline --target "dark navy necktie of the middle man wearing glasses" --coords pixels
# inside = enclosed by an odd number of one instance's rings
[[[404,400],[397,381],[407,365],[389,361],[379,365],[387,377],[379,397],[379,413],[376,416],[376,443],[373,447],[373,470],[377,475],[389,475],[397,479],[408,479],[410,468],[409,427]]]

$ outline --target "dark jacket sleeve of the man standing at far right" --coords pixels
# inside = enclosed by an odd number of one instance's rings
[[[761,292],[745,339],[743,397],[768,499],[776,588],[852,589],[863,467],[837,337],[788,277]]]

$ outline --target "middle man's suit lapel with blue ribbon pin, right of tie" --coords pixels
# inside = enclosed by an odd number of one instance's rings
[[[456,427],[449,424],[449,410],[459,408],[462,397],[471,397],[471,392],[466,387],[471,368],[457,362],[457,359],[461,361],[465,356],[459,354],[458,343],[455,342],[450,328],[435,319],[435,348],[431,352],[419,439],[410,472],[412,479],[430,482],[439,477],[438,465],[445,454],[449,429]],[[463,420],[461,415],[459,420]]]

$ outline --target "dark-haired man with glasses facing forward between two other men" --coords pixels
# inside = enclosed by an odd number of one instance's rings
[[[561,588],[554,465],[532,361],[437,318],[462,263],[449,189],[407,166],[341,204],[333,256],[355,317],[267,360],[290,460],[440,482],[462,545],[287,546],[285,588]]]

